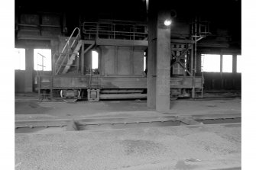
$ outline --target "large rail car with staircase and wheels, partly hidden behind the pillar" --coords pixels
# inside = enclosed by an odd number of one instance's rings
[[[147,98],[147,67],[144,68],[144,63],[147,63],[146,30],[139,25],[140,31],[134,30],[128,32],[128,35],[127,32],[121,34],[122,31],[118,30],[99,34],[99,25],[97,32],[90,32],[89,30],[94,29],[87,26],[83,24],[83,37],[78,33],[76,37],[72,34],[70,38],[63,37],[60,40],[61,53],[53,56],[53,74],[37,76],[39,93],[50,91],[52,98],[73,101],[80,98],[89,101]],[[118,34],[126,37],[113,38]],[[195,59],[191,42],[175,39],[171,41],[172,98],[191,97],[192,93],[203,91],[203,77],[196,77],[192,73]],[[92,69],[92,51],[99,54],[97,69]]]

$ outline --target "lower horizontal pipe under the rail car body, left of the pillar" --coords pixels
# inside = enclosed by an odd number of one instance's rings
[[[99,99],[136,99],[147,98],[147,94],[100,94]]]

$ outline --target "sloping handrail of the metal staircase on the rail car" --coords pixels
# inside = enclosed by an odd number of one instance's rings
[[[78,34],[76,34],[75,39],[72,40],[73,34],[75,33],[76,30],[78,30]],[[66,41],[66,44],[63,47],[63,50],[61,51],[57,60],[54,62],[54,73],[55,73],[55,75],[57,75],[60,72],[60,69],[63,66],[66,66],[65,62],[67,62],[69,60],[70,54],[71,55],[73,54],[73,52],[72,52],[73,47],[75,47],[77,45],[79,40],[80,40],[80,29],[78,27],[76,27],[73,30],[72,34],[70,35],[70,38]]]

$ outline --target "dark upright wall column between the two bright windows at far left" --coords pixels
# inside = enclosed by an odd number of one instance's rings
[[[33,92],[34,49],[26,49],[25,54],[26,70],[24,92]]]

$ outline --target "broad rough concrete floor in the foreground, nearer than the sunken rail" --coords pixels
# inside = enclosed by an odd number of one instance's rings
[[[15,135],[15,169],[215,169],[241,166],[241,125]]]

